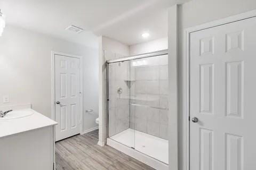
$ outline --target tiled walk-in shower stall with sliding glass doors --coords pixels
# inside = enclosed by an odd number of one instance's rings
[[[118,143],[130,155],[134,150],[167,166],[167,91],[167,50],[108,60],[108,144]]]

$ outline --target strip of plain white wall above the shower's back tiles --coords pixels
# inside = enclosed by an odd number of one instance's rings
[[[159,38],[146,43],[140,43],[130,46],[130,55],[156,52],[158,50],[168,49],[168,38]]]

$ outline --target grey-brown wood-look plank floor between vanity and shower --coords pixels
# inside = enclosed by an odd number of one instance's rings
[[[57,170],[151,170],[150,166],[109,147],[100,147],[98,130],[56,142]]]

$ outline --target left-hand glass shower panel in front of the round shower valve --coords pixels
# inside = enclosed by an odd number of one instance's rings
[[[134,120],[130,109],[133,80],[130,61],[108,64],[108,135],[134,148]]]

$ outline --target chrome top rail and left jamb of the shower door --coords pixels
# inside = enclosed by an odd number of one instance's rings
[[[106,100],[107,100],[107,138],[109,138],[109,64],[111,63],[117,63],[117,62],[125,62],[125,61],[132,61],[132,60],[136,60],[136,59],[140,59],[140,58],[148,58],[148,57],[156,57],[156,56],[162,56],[162,55],[167,55],[168,54],[168,49],[164,49],[164,50],[159,50],[156,52],[151,52],[151,53],[145,53],[145,54],[139,54],[139,55],[133,55],[130,57],[124,57],[124,58],[118,58],[118,59],[114,59],[114,60],[107,60],[106,61]],[[130,122],[129,122],[130,124]]]

